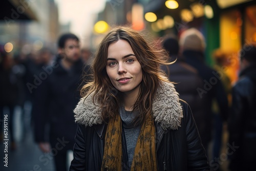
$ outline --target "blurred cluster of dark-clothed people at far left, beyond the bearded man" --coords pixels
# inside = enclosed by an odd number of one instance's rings
[[[25,104],[32,103],[34,93],[28,89],[27,85],[33,83],[34,75],[38,75],[43,66],[48,65],[53,57],[49,49],[42,49],[38,53],[24,55],[16,53],[13,56],[6,53],[1,47],[1,119],[4,111],[8,112],[9,136],[11,148],[16,148],[13,137],[13,118],[15,106],[20,106],[24,118]],[[1,131],[3,133],[3,131]],[[2,134],[3,138],[3,134]]]

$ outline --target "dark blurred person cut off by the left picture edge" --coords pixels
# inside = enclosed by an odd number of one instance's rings
[[[11,149],[16,149],[16,142],[13,132],[13,119],[15,106],[18,99],[18,83],[17,76],[13,70],[14,61],[12,56],[4,51],[3,47],[0,47],[0,119],[1,119],[1,139],[10,139]],[[5,113],[4,111],[8,111]],[[4,118],[5,122],[4,122]],[[4,127],[4,124],[8,124]],[[5,129],[5,130],[4,130]],[[6,130],[7,129],[7,130]],[[5,131],[5,132],[4,132]],[[4,138],[4,133],[8,133]]]

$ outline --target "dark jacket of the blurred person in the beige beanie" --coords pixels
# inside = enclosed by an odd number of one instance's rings
[[[193,114],[203,145],[207,148],[212,138],[212,101],[216,99],[218,108],[220,109],[220,116],[224,120],[226,120],[229,112],[227,94],[225,93],[221,80],[223,74],[206,66],[202,52],[185,50],[183,56],[185,62],[191,67],[194,67],[197,70],[198,76],[202,79],[201,85],[199,81],[198,87],[196,88],[198,93],[197,98],[195,98],[195,101],[197,100],[197,108],[195,110],[193,108]]]

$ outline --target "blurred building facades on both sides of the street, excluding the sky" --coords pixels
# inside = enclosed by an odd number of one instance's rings
[[[176,4],[176,7],[175,7]],[[56,49],[56,39],[68,32],[71,24],[59,24],[54,0],[5,1],[0,7],[0,44],[13,44],[13,51],[24,53],[42,47]],[[256,1],[251,0],[106,0],[104,10],[96,17],[90,37],[95,49],[103,35],[118,25],[145,30],[155,39],[170,33],[180,35],[187,28],[199,29],[206,38],[206,61],[214,65],[212,52],[222,49],[230,66],[227,74],[237,79],[237,52],[244,44],[256,42]],[[88,44],[88,42],[87,42]]]

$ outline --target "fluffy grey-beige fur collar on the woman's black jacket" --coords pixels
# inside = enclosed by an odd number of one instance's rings
[[[99,108],[92,102],[92,96],[85,101],[81,98],[74,113],[75,121],[79,124],[92,126],[103,122]],[[153,116],[155,122],[160,123],[164,130],[177,130],[180,126],[182,107],[172,83],[163,82],[163,89],[157,91],[156,100],[153,102]]]

